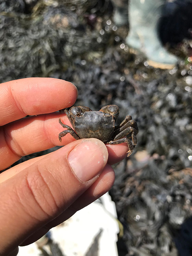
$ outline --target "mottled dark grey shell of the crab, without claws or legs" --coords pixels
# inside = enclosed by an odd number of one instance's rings
[[[115,120],[112,115],[101,111],[87,111],[75,117],[75,131],[80,138],[97,138],[108,141],[114,131]]]

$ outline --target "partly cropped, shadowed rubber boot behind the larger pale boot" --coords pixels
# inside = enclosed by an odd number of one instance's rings
[[[113,4],[113,21],[117,26],[128,24],[128,0],[111,0]]]

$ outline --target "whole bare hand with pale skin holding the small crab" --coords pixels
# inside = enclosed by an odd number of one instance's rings
[[[75,141],[70,134],[59,142],[59,118],[70,123],[56,111],[71,107],[76,97],[76,87],[60,79],[0,84],[0,170],[21,156],[65,145],[0,174],[0,256],[17,255],[18,246],[37,241],[106,193],[115,179],[111,164],[127,156],[127,143]]]

